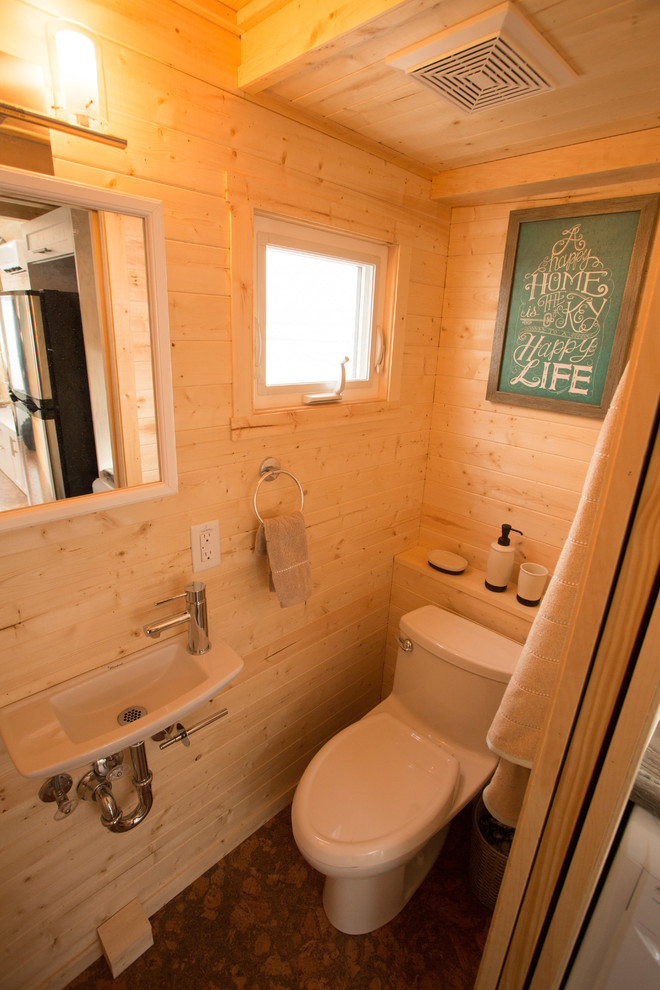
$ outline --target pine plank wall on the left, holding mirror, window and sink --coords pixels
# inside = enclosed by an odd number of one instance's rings
[[[189,749],[148,742],[154,808],[127,835],[109,834],[87,803],[54,821],[39,782],[0,750],[0,983],[12,990],[63,986],[100,953],[101,922],[135,897],[152,913],[216,862],[290,800],[315,749],[379,699],[393,556],[419,534],[449,220],[425,180],[232,92],[238,39],[199,14],[169,0],[4,0],[3,48],[45,65],[54,14],[100,34],[111,130],[128,139],[120,152],[53,133],[55,174],[164,204],[179,494],[3,534],[0,692],[10,701],[148,645],[153,602],[190,579],[191,524],[212,519],[222,563],[204,575],[211,636],[245,671],[199,713],[227,705],[230,717]],[[359,201],[410,246],[397,408],[231,438],[228,170],[314,185],[319,218],[340,225],[343,204]],[[314,593],[285,610],[252,552],[267,455],[305,490]]]

